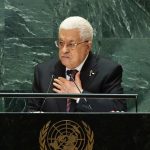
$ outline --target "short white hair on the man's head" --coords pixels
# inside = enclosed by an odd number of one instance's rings
[[[93,39],[93,28],[91,24],[86,19],[79,16],[66,18],[60,24],[59,32],[61,29],[79,29],[82,40],[92,41]]]

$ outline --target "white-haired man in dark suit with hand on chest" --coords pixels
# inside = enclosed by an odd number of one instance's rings
[[[55,42],[59,48],[59,60],[52,59],[35,67],[33,92],[123,93],[122,67],[94,55],[91,52],[92,39],[93,28],[87,20],[78,16],[65,19],[60,24],[58,41]],[[74,79],[70,70],[77,72]],[[31,99],[28,111],[126,111],[126,102],[114,99]]]

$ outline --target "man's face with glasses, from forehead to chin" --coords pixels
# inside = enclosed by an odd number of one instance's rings
[[[61,29],[59,43],[59,59],[69,69],[79,66],[91,49],[91,42],[81,40],[78,29]]]

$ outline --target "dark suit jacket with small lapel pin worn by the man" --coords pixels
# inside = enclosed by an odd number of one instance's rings
[[[94,74],[91,74],[90,72]],[[65,77],[65,66],[60,61],[51,60],[46,63],[38,64],[35,67],[33,92],[53,92],[51,77]],[[121,94],[123,88],[122,67],[112,61],[100,58],[90,52],[83,68],[80,72],[82,87],[84,93],[112,93]],[[50,85],[50,88],[48,89]],[[109,112],[109,111],[126,111],[125,100],[102,100],[102,99],[80,99],[79,103],[75,101],[71,104],[73,112]],[[89,108],[92,107],[92,110]],[[65,112],[66,99],[31,99],[28,102],[28,111],[44,112]]]

